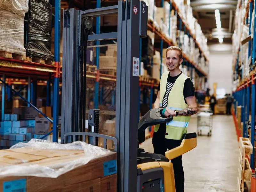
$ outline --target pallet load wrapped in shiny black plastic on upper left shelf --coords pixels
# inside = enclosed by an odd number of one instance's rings
[[[31,0],[28,12],[27,56],[51,59],[52,5],[46,0]]]

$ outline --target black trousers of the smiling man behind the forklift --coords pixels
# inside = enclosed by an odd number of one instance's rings
[[[163,127],[160,127],[158,132],[154,132],[152,139],[154,153],[165,155],[165,151],[167,151],[167,148],[170,150],[180,146],[181,140],[165,139],[164,136],[165,128]],[[173,164],[176,192],[184,192],[185,178],[181,158],[182,156],[178,156],[171,160]]]

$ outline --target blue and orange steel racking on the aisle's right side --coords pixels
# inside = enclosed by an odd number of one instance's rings
[[[254,7],[256,7],[256,1],[254,1]],[[251,28],[252,25],[252,16],[254,17],[255,20],[255,12],[254,15],[252,15],[252,0],[249,0],[246,4],[246,13],[245,13],[245,18],[244,22],[248,25],[249,24],[249,29]],[[249,19],[250,18],[250,19]],[[249,36],[251,35],[251,30],[249,30]],[[255,31],[255,25],[253,28],[253,37],[255,37],[256,31]],[[241,45],[241,44],[240,44]],[[243,122],[243,132],[240,133],[240,131],[237,130],[237,135],[242,136],[242,137],[249,137],[248,135],[248,122],[249,122],[249,113],[250,113],[250,108],[251,108],[251,116],[252,116],[252,121],[251,121],[251,143],[254,148],[254,127],[255,127],[255,64],[254,64],[254,59],[255,59],[255,47],[256,47],[256,38],[253,38],[252,40],[249,40],[248,42],[248,58],[252,55],[252,66],[251,66],[251,73],[249,78],[244,78],[239,84],[239,86],[236,88],[236,91],[233,92],[233,97],[235,98],[234,102],[234,114],[236,115],[236,107],[237,106],[242,106],[241,109],[241,122]],[[235,65],[235,70],[238,72],[238,62],[239,62],[239,52],[240,48],[236,52],[237,54],[237,59],[236,59],[236,65]],[[236,76],[238,78],[238,76]],[[251,88],[251,92],[250,92]],[[250,105],[250,99],[251,99],[251,105]],[[250,165],[251,168],[254,169],[254,150],[252,150],[251,158],[250,158]]]

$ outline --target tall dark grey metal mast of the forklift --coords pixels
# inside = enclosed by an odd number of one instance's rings
[[[92,34],[93,20],[110,14],[117,14],[117,31]],[[139,116],[137,87],[140,66],[138,44],[140,37],[147,36],[148,7],[139,0],[118,1],[115,6],[85,11],[64,10],[63,17],[61,143],[74,141],[74,136],[75,140],[80,140],[77,136],[79,134],[75,133],[84,135],[82,133],[85,132],[85,114],[89,111],[85,104],[87,43],[115,40],[116,136],[112,139],[116,141],[117,151],[117,191],[136,191]],[[92,136],[92,133],[86,135],[90,134]]]

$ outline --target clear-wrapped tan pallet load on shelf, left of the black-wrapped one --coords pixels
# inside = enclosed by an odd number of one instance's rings
[[[28,11],[28,0],[0,1],[0,50],[26,54],[23,18]]]

